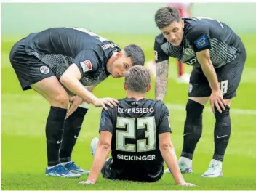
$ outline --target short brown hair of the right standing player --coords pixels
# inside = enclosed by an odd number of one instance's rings
[[[155,14],[156,26],[159,29],[164,28],[175,21],[179,22],[180,20],[180,11],[177,7],[161,7]]]

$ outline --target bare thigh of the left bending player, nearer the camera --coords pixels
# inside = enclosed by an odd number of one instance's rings
[[[69,104],[69,95],[60,84],[56,76],[44,78],[31,87],[48,100],[50,105],[66,109]]]

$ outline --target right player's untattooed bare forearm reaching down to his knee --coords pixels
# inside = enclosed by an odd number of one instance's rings
[[[205,60],[204,63],[201,64],[201,69],[204,72],[204,76],[207,77],[209,86],[211,87],[212,91],[217,91],[219,89],[219,84],[217,81],[217,75],[215,72],[215,68],[212,65],[212,61]]]

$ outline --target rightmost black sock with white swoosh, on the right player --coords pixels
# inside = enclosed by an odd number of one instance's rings
[[[230,107],[225,106],[225,110],[219,113],[215,107],[215,153],[213,159],[219,161],[223,161],[228,140],[231,136],[231,117],[229,110]]]

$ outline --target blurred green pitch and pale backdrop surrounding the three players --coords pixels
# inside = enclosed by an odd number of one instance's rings
[[[49,104],[39,94],[23,92],[9,63],[9,51],[20,38],[52,27],[81,27],[108,38],[121,48],[138,44],[146,61],[153,60],[154,38],[159,29],[154,13],[167,3],[12,3],[1,4],[1,189],[2,190],[84,190],[78,180],[46,179],[47,166],[45,122]],[[201,185],[196,190],[256,190],[255,184],[255,115],[256,115],[256,4],[255,3],[193,3],[191,16],[212,17],[227,23],[239,34],[247,49],[247,62],[231,106],[232,134],[223,163],[222,179],[204,179],[213,153],[215,118],[209,105],[204,109],[204,128],[193,158],[193,176],[188,182]],[[183,145],[185,104],[188,84],[177,83],[177,65],[169,59],[169,84],[164,102],[169,108],[172,142],[177,157]],[[191,67],[185,66],[190,73]],[[96,87],[97,97],[125,97],[124,79],[110,76]],[[154,78],[147,97],[154,99]],[[100,108],[92,107],[84,118],[83,129],[73,152],[73,160],[89,169],[92,156],[89,142],[98,136]],[[82,178],[84,179],[84,178]],[[100,182],[103,180],[100,179]],[[164,175],[156,184],[97,184],[97,190],[177,190],[164,186],[172,182]]]

